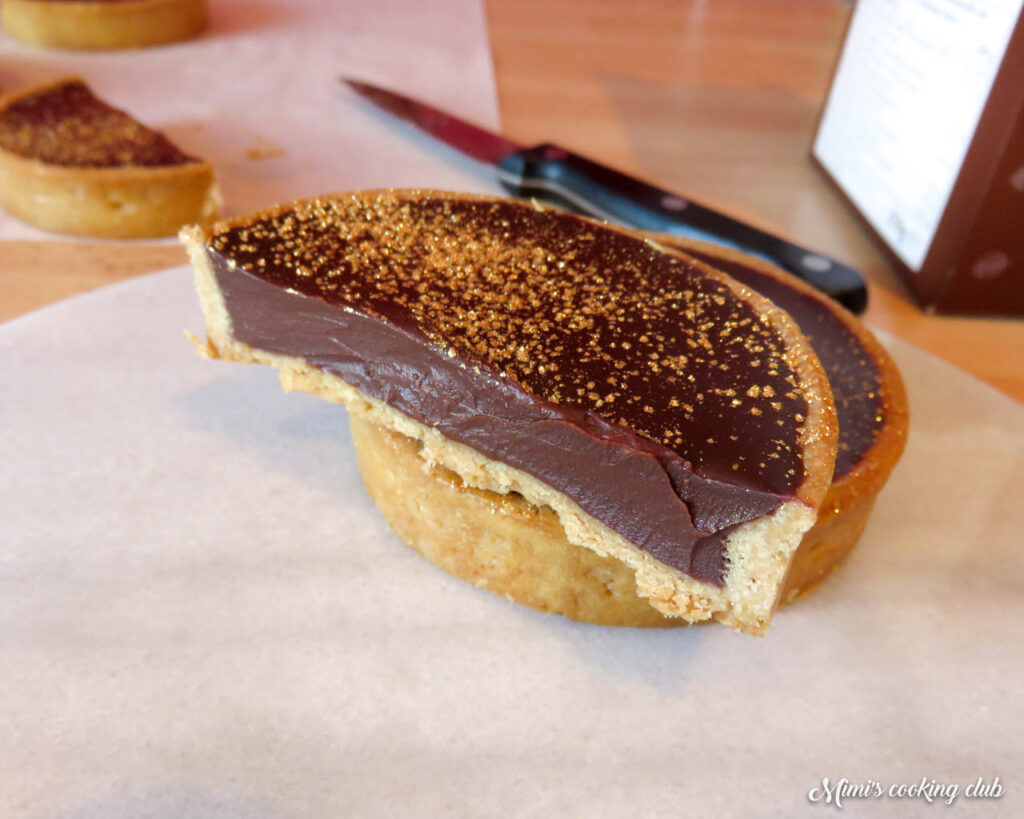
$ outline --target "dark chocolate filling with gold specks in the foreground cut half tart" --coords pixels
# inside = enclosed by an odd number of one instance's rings
[[[638,238],[390,192],[224,223],[205,249],[234,339],[534,475],[697,579],[722,585],[724,535],[804,480],[778,328]]]

